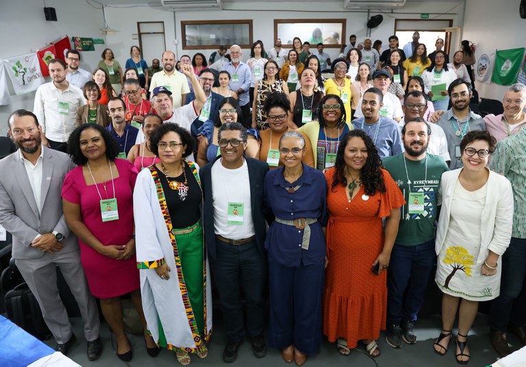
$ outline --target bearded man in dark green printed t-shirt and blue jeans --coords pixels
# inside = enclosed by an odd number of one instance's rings
[[[392,248],[387,275],[386,342],[401,348],[416,343],[413,331],[433,269],[438,187],[449,170],[444,159],[426,152],[431,127],[409,118],[402,128],[405,152],[384,159],[384,166],[402,191],[405,203]]]

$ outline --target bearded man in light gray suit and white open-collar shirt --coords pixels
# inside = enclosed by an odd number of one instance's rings
[[[8,124],[18,151],[0,161],[0,224],[13,236],[16,267],[58,342],[55,349],[66,355],[75,335],[58,294],[55,267],[60,267],[84,320],[88,359],[97,359],[102,353],[99,312],[60,199],[64,176],[73,163],[66,154],[42,146],[42,128],[34,113],[14,111]]]

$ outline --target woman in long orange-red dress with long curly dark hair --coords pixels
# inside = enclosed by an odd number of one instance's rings
[[[405,203],[385,169],[371,137],[353,130],[327,169],[327,269],[323,300],[323,334],[349,355],[362,340],[377,357],[380,330],[386,328],[390,253]],[[386,218],[385,231],[382,218]],[[352,238],[349,240],[349,238]]]

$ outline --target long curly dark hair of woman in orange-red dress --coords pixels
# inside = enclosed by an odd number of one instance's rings
[[[345,148],[353,137],[360,137],[367,148],[367,159],[365,161],[364,167],[360,172],[360,180],[362,185],[364,185],[364,191],[366,195],[372,196],[375,195],[377,191],[384,193],[386,192],[386,185],[384,183],[384,174],[381,172],[381,159],[378,155],[378,151],[373,144],[373,139],[369,137],[362,130],[351,130],[349,133],[345,134],[340,146],[338,146],[338,152],[336,152],[336,163],[334,164],[334,175],[332,176],[332,186],[331,191],[335,192],[335,188],[338,185],[343,187],[347,186],[347,178],[345,178]]]

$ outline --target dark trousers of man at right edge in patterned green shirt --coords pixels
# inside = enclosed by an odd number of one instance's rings
[[[526,323],[526,239],[512,237],[502,256],[501,295],[493,300],[490,327],[506,331],[508,322]]]

